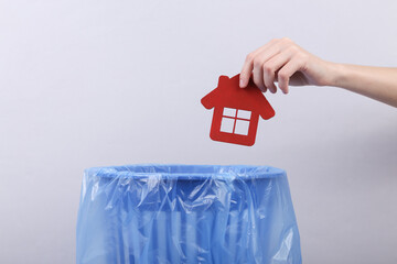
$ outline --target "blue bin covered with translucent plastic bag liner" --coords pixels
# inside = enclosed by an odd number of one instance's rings
[[[77,263],[301,263],[286,172],[240,165],[86,169]]]

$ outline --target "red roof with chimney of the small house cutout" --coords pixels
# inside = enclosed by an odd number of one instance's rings
[[[206,109],[228,107],[257,112],[262,119],[270,119],[275,110],[253,81],[246,88],[239,87],[239,75],[232,78],[221,76],[218,86],[201,100]]]

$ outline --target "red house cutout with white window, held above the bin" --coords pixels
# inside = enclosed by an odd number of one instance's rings
[[[275,110],[253,81],[244,89],[239,88],[238,81],[239,75],[233,78],[221,76],[218,86],[201,102],[206,109],[215,108],[210,133],[212,140],[251,146],[259,116],[270,119]]]

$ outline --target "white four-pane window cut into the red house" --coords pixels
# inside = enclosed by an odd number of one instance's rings
[[[250,111],[224,108],[221,131],[232,134],[248,135]]]

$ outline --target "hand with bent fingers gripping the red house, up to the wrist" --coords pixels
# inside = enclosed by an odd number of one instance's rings
[[[308,53],[291,40],[272,40],[248,54],[242,73],[240,87],[248,85],[250,76],[261,91],[277,91],[275,81],[283,94],[288,86],[333,85],[332,63]]]

